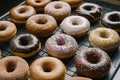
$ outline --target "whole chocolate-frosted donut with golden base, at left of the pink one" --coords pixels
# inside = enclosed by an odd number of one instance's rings
[[[41,43],[38,38],[28,33],[18,35],[10,42],[11,53],[23,58],[37,54],[40,51],[40,48]]]

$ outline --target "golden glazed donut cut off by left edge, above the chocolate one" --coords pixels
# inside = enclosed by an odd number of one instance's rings
[[[9,21],[0,21],[0,43],[10,41],[17,33],[14,23]]]

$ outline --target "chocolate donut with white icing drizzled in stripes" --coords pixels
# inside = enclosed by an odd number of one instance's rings
[[[90,22],[96,22],[102,15],[102,7],[94,3],[83,3],[76,12],[78,15],[86,17]]]

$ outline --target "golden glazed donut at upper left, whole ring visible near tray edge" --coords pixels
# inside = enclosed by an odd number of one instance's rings
[[[14,23],[25,24],[27,19],[35,14],[36,11],[32,6],[21,5],[10,10],[10,19]]]

